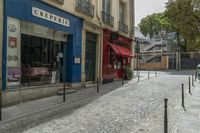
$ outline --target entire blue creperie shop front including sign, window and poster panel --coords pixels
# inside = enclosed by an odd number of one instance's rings
[[[82,20],[39,0],[4,0],[3,90],[81,82]]]

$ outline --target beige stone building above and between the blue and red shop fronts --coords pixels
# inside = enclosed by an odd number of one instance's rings
[[[83,18],[82,86],[102,79],[104,29],[134,39],[134,0],[68,0],[62,4],[43,1]]]

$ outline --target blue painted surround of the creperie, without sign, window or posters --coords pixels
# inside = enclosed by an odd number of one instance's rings
[[[43,25],[55,30],[64,31],[69,34],[68,42],[64,48],[64,60],[66,63],[66,79],[67,82],[80,82],[81,81],[81,63],[75,64],[75,57],[81,58],[81,40],[82,40],[82,20],[78,17],[63,12],[59,9],[53,8],[41,1],[37,0],[5,0],[5,15],[8,17],[14,17],[20,20],[37,23],[39,25]],[[47,21],[45,19],[41,19],[39,17],[34,17],[32,15],[32,7],[37,7],[39,9],[43,9],[52,14],[58,15],[63,18],[67,18],[70,21],[70,26],[66,27],[63,25],[56,24],[51,21]],[[12,8],[12,10],[10,10]],[[6,19],[5,19],[6,20]],[[5,21],[7,25],[7,21]],[[3,43],[3,88],[6,88],[6,69],[7,69],[7,26],[5,25],[4,30],[4,43]]]

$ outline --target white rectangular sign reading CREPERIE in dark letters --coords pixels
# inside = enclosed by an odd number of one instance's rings
[[[70,21],[68,19],[65,19],[63,17],[49,13],[47,11],[44,11],[36,7],[32,7],[32,15],[41,19],[45,19],[45,20],[66,26],[66,27],[70,26]]]

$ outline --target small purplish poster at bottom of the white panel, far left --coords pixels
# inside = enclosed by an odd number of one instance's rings
[[[20,68],[8,68],[8,86],[20,85]]]

